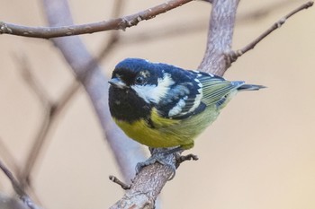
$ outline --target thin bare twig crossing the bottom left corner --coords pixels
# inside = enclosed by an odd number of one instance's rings
[[[3,170],[5,176],[10,179],[15,193],[20,196],[20,199],[23,201],[24,205],[27,205],[30,209],[40,209],[38,205],[35,205],[31,201],[31,198],[24,192],[23,187],[21,187],[20,183],[14,178],[12,172],[4,166],[2,161],[0,161],[0,169]]]

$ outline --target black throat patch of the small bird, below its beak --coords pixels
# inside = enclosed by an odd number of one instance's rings
[[[111,86],[109,89],[109,108],[113,118],[132,123],[140,118],[148,120],[151,106],[130,89]]]

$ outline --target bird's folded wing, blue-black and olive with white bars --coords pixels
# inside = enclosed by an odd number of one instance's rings
[[[198,71],[187,71],[187,74],[190,79],[175,83],[158,103],[156,108],[160,116],[189,118],[212,104],[220,106],[231,91],[244,83],[229,82],[220,76]]]

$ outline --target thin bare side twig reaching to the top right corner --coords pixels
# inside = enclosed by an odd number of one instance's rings
[[[260,36],[257,37],[257,39],[254,39],[252,42],[250,42],[246,47],[238,49],[236,51],[231,51],[227,53],[227,62],[229,65],[232,62],[235,62],[238,57],[241,57],[247,51],[253,49],[256,47],[256,45],[262,40],[265,39],[270,33],[275,31],[276,29],[279,29],[285,22],[288,20],[291,16],[293,16],[295,13],[299,13],[304,9],[308,9],[314,4],[314,2],[310,1],[308,3],[302,4],[298,8],[294,9],[291,13],[286,14],[283,18],[281,18],[279,21],[275,22],[268,30],[263,32]]]

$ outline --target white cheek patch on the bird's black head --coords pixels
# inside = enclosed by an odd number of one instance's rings
[[[157,104],[166,96],[170,86],[174,83],[170,74],[165,74],[163,78],[157,79],[157,85],[132,85],[131,88],[146,102],[154,102]]]

